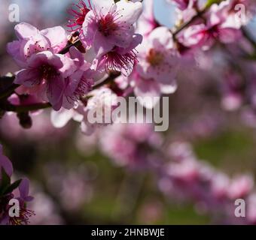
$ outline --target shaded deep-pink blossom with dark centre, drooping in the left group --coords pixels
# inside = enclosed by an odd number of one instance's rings
[[[41,86],[40,94],[52,104],[54,110],[62,107],[65,79],[75,73],[76,66],[71,58],[49,51],[32,55],[27,68],[17,73],[14,83],[29,88]]]

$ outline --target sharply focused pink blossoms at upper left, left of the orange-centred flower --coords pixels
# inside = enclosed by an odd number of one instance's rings
[[[104,92],[92,92],[96,83],[105,74],[132,71],[136,46],[142,43],[135,29],[141,2],[79,1],[70,13],[69,36],[61,26],[41,31],[29,23],[15,26],[17,40],[8,43],[7,50],[22,70],[16,73],[18,87],[8,98],[12,105],[48,103],[55,111],[73,113],[79,108],[86,118],[87,105],[96,103],[87,100],[101,98]]]

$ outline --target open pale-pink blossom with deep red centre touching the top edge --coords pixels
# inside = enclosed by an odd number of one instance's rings
[[[84,43],[93,46],[96,55],[111,51],[114,46],[126,48],[133,41],[133,24],[142,13],[140,2],[93,1],[83,24]]]

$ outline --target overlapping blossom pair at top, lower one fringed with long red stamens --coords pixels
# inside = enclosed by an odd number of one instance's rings
[[[142,13],[139,1],[88,1],[81,41],[92,47],[99,62],[108,70],[130,69],[136,61],[134,49],[142,42],[133,26]],[[98,62],[96,65],[99,64]],[[130,67],[132,65],[132,67]]]

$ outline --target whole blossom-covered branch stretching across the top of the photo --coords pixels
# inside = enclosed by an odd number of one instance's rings
[[[0,99],[3,113],[22,112],[17,115],[20,122],[30,127],[29,111],[52,107],[56,127],[74,118],[84,133],[93,133],[101,125],[87,121],[93,107],[114,108],[117,104],[109,98],[116,96],[172,94],[187,57],[218,43],[230,47],[245,40],[241,29],[255,7],[250,0],[169,2],[178,15],[171,30],[155,20],[153,0],[144,2],[144,10],[139,0],[78,1],[69,9],[68,32],[61,26],[40,31],[29,23],[18,24],[17,40],[7,50],[22,70],[14,77],[12,95]],[[245,13],[237,12],[241,5]],[[224,107],[239,104],[239,86],[227,84],[230,98],[224,99]],[[139,100],[150,109],[156,104]]]

